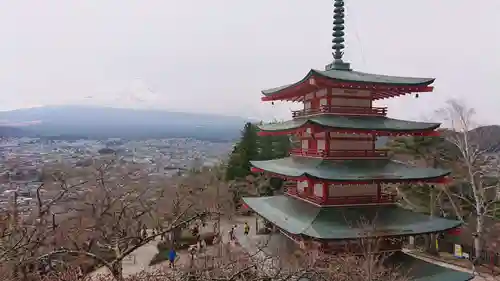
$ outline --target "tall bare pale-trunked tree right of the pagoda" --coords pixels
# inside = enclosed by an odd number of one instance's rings
[[[481,257],[484,248],[485,218],[492,216],[497,208],[496,193],[499,190],[499,165],[491,152],[494,148],[491,130],[478,128],[474,122],[474,110],[463,102],[450,100],[439,111],[451,132],[445,133],[446,139],[459,151],[459,165],[454,169],[455,185],[462,188],[446,190],[452,197],[460,199],[473,209],[475,218],[474,257]],[[456,215],[462,219],[463,213],[455,208]]]

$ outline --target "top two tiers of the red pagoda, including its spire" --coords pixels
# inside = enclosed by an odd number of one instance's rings
[[[292,111],[292,120],[260,125],[259,135],[291,134],[292,156],[323,160],[387,159],[387,151],[376,147],[380,136],[437,135],[439,123],[389,118],[386,107],[374,106],[379,99],[431,92],[435,79],[352,70],[343,60],[344,3],[334,6],[334,61],[296,83],[262,91],[263,101],[301,102],[303,107]]]

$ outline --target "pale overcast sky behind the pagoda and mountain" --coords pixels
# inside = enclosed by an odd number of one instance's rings
[[[93,103],[289,118],[260,90],[332,59],[332,0],[0,0],[0,109]],[[500,124],[500,0],[346,0],[355,70],[436,77],[387,102],[422,119],[449,98]]]

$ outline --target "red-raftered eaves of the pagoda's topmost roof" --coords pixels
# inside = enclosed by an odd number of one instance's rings
[[[345,71],[346,73],[357,73],[353,71]],[[364,73],[363,73],[364,74]],[[364,74],[371,75],[371,74]],[[386,76],[383,76],[386,77]],[[404,77],[393,77],[394,79],[410,79]],[[418,79],[418,78],[413,78]],[[429,86],[434,79],[420,78],[424,82],[418,84],[412,83],[376,83],[366,81],[345,81],[337,78],[328,77],[321,74],[319,71],[311,70],[301,81],[278,87],[275,89],[262,91],[264,97],[262,101],[288,100],[293,102],[301,102],[304,96],[310,92],[317,91],[322,88],[337,88],[346,90],[369,90],[372,92],[368,97],[372,100],[392,98],[411,93],[432,92],[434,87]],[[373,79],[375,80],[375,79]],[[380,80],[380,79],[379,79]],[[352,96],[349,96],[353,98]]]

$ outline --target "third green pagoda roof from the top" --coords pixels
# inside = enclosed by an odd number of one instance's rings
[[[258,169],[286,177],[313,177],[331,181],[432,180],[450,174],[449,170],[410,167],[389,159],[323,160],[290,156],[286,158],[250,161]]]

